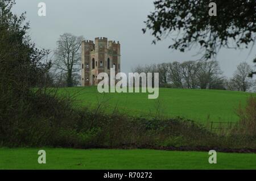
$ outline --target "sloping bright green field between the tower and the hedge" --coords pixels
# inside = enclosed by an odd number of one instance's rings
[[[250,96],[250,93],[238,91],[164,88],[160,88],[158,99],[147,99],[147,93],[100,94],[97,87],[72,87],[59,92],[73,95],[79,106],[93,108],[101,103],[107,111],[118,107],[121,112],[142,116],[154,116],[158,110],[160,115],[181,116],[201,123],[237,121],[236,108],[240,103],[244,105]]]

